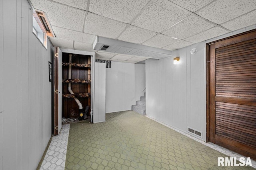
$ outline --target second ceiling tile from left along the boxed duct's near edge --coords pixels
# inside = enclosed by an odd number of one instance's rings
[[[149,31],[147,29],[142,29],[133,25],[129,25],[118,39],[122,41],[140,44],[156,34],[157,33]]]

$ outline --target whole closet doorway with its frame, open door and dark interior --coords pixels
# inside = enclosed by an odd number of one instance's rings
[[[83,51],[75,53],[70,53],[69,49],[54,48],[54,135],[60,133],[62,120],[63,123],[85,119],[88,119],[88,123],[93,122],[94,55]]]

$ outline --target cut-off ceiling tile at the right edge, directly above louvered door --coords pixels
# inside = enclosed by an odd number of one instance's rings
[[[256,23],[256,10],[250,12],[246,15],[240,16],[234,20],[228,21],[222,24],[222,27],[225,27],[231,31],[235,31],[240,28],[244,28]]]

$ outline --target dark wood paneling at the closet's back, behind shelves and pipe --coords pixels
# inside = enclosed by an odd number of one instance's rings
[[[69,63],[69,54],[62,53],[63,63]],[[91,56],[86,57],[85,55],[72,55],[72,63],[88,64],[88,61],[91,61]],[[90,63],[89,63],[90,64]],[[62,66],[62,79],[68,79],[68,66]],[[88,80],[88,70],[90,68],[80,68],[72,67],[72,79],[83,79]],[[86,83],[72,83],[71,88],[74,93],[90,93],[88,91],[88,84]],[[69,94],[68,92],[68,83],[62,84],[63,94]],[[81,102],[83,108],[90,106],[91,102],[89,98],[78,98]],[[62,117],[69,118],[70,109],[74,108],[78,113],[78,105],[73,98],[63,98],[62,100]]]

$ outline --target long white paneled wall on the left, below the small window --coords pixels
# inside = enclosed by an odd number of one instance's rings
[[[0,169],[34,170],[52,135],[46,50],[27,0],[0,0]]]

